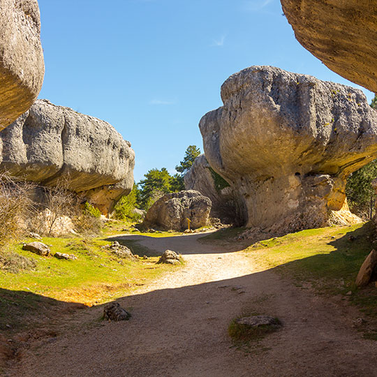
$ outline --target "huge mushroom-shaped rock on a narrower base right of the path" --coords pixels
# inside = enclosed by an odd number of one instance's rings
[[[209,164],[237,189],[247,226],[324,226],[346,178],[377,157],[377,112],[362,91],[269,66],[235,73],[200,121]]]

